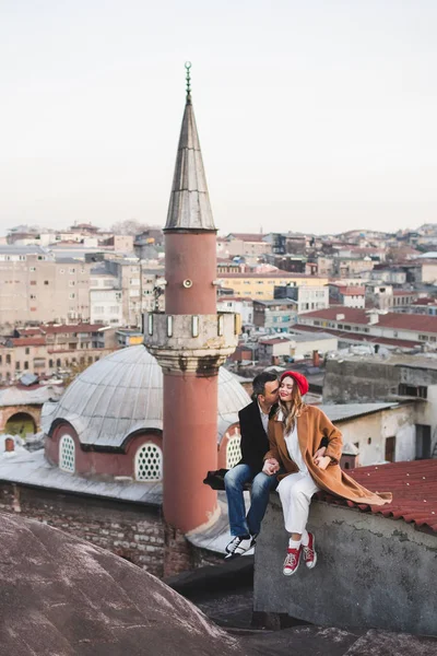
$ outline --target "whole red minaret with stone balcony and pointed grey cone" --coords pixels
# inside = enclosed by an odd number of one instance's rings
[[[191,103],[190,67],[165,233],[165,314],[144,343],[164,374],[164,518],[188,532],[217,512],[203,484],[217,467],[217,374],[237,344],[235,315],[216,313],[216,229]]]

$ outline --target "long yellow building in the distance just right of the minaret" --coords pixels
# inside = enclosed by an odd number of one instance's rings
[[[274,298],[275,286],[323,286],[328,278],[273,271],[264,273],[221,273],[222,286],[233,290],[235,296],[250,296],[253,301],[270,301]]]

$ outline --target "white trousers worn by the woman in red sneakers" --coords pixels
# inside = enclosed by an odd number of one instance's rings
[[[320,488],[316,485],[307,471],[290,473],[277,485],[284,513],[285,529],[288,532],[303,534],[308,520],[311,496]]]

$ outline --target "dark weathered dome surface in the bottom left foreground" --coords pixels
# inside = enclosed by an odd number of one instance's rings
[[[0,547],[3,654],[247,654],[190,601],[106,549],[7,514]]]

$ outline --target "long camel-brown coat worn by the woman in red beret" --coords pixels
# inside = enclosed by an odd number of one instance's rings
[[[370,492],[340,469],[342,434],[319,408],[316,406],[304,407],[300,417],[297,418],[297,435],[308,471],[321,490],[343,496],[355,503],[383,505],[391,502],[389,492]],[[319,448],[320,440],[323,436],[328,437],[329,441],[326,456],[333,459],[333,462],[324,470],[312,462],[312,456]],[[264,460],[275,458],[286,471],[285,475],[279,476],[279,479],[298,471],[288,455],[284,440],[284,424],[277,419],[277,413],[269,421],[269,443],[270,450],[265,454]]]

